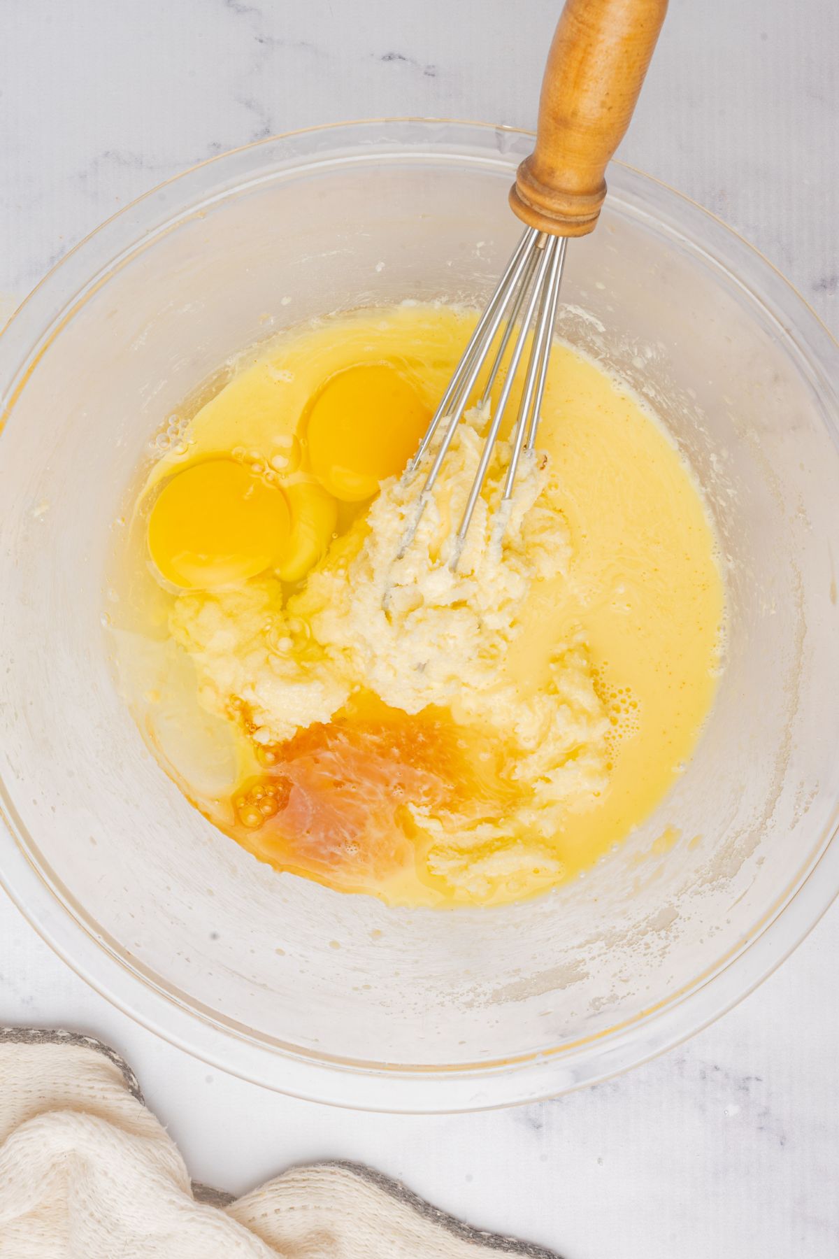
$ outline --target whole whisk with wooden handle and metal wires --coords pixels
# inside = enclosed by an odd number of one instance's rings
[[[406,477],[414,476],[445,422],[400,554],[410,543],[501,332],[479,407],[488,403],[514,341],[452,550],[450,563],[457,565],[532,326],[502,506],[512,497],[522,451],[533,448],[538,429],[567,240],[586,235],[597,222],[606,195],[606,164],[629,126],[665,11],[667,0],[567,0],[562,10],[542,81],[536,147],[518,167],[509,190],[509,204],[526,224],[525,233],[406,468]]]

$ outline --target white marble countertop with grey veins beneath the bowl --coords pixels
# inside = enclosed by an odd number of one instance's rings
[[[196,160],[317,122],[532,125],[560,0],[0,0],[0,315],[81,235]],[[839,9],[674,4],[621,156],[757,244],[839,326]],[[1,894],[0,894],[1,898]],[[0,899],[0,1022],[108,1040],[196,1178],[352,1158],[567,1259],[839,1253],[839,908],[688,1045],[596,1089],[448,1118],[244,1084],[91,991]]]

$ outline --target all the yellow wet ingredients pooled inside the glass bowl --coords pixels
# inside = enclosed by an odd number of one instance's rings
[[[720,666],[692,476],[562,344],[503,533],[502,448],[452,572],[473,410],[396,558],[423,482],[399,475],[474,320],[406,303],[254,351],[146,471],[121,560],[122,677],[189,798],[277,869],[399,905],[604,857],[689,758]]]

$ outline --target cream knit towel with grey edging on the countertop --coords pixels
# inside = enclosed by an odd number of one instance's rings
[[[238,1200],[194,1186],[112,1050],[88,1036],[0,1029],[0,1259],[491,1259],[499,1250],[556,1259],[348,1163],[296,1167]]]

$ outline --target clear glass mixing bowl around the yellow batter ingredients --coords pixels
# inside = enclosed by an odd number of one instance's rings
[[[626,167],[569,251],[560,332],[669,426],[728,589],[716,708],[655,816],[542,899],[391,910],[216,833],[116,692],[106,558],[164,417],[308,316],[482,303],[531,144],[409,120],[226,154],[99,228],[0,339],[0,878],[122,1008],[303,1097],[467,1109],[601,1079],[742,997],[839,889],[839,347],[747,244]]]

